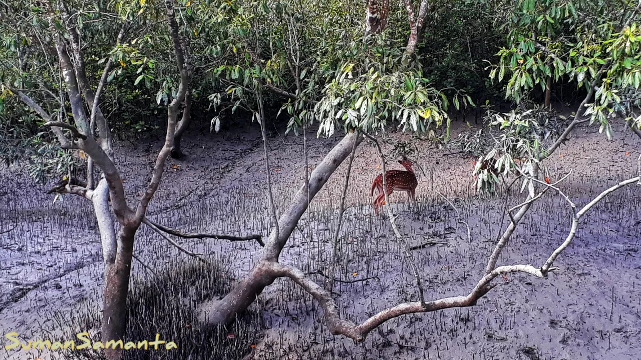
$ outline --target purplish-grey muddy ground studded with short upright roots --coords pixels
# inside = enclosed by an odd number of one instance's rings
[[[609,142],[596,128],[580,128],[547,163],[552,179],[572,171],[561,188],[578,206],[637,171],[641,142],[622,127],[616,129]],[[314,167],[338,138],[308,135]],[[434,149],[426,141],[417,145],[418,162],[426,172],[419,176],[419,206],[412,209],[398,193],[391,197],[392,206],[410,245],[437,242],[413,250],[426,298],[467,295],[481,277],[501,224],[506,226],[504,200],[513,206],[522,195],[474,196],[470,158]],[[132,201],[142,192],[159,147],[153,140],[135,147],[119,143],[117,165]],[[257,125],[219,135],[194,130],[185,139],[184,151],[184,160],[168,161],[149,218],[186,231],[267,236],[270,220]],[[284,136],[283,127],[274,126],[270,156],[276,202],[283,209],[303,183],[302,138]],[[374,147],[363,143],[354,160],[340,236],[340,279],[372,277],[335,288],[342,316],[355,322],[418,296],[403,255],[405,245],[394,240],[387,217],[375,217],[372,211],[369,185],[378,165]],[[345,165],[313,200],[281,261],[305,272],[326,270],[344,173]],[[21,168],[2,170],[0,176],[0,332],[15,331],[24,340],[47,338],[69,321],[55,313],[101,304],[103,266],[96,221],[86,200],[69,195],[52,203],[46,186],[33,186]],[[640,359],[639,189],[624,188],[599,204],[581,222],[574,243],[556,262],[559,270],[549,279],[518,274],[499,278],[499,285],[475,307],[403,316],[372,332],[362,344],[329,334],[311,297],[291,281],[276,281],[253,306],[262,318],[263,338],[248,358]],[[451,199],[469,223],[471,243],[437,192]],[[569,215],[567,202],[548,192],[524,219],[499,265],[540,266],[569,231]],[[177,241],[221,261],[236,279],[247,274],[260,254],[255,242]],[[187,259],[146,227],[141,227],[136,247],[138,258],[154,272]],[[151,276],[138,262],[133,271],[138,277]],[[207,305],[199,306],[206,311]],[[0,359],[35,356],[0,349]],[[38,356],[48,359],[51,354]]]

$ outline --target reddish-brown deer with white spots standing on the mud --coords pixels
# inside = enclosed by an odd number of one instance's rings
[[[419,182],[416,179],[414,170],[412,169],[412,161],[408,158],[403,158],[399,160],[399,163],[407,169],[403,170],[388,170],[385,172],[385,182],[387,183],[387,196],[392,194],[394,190],[407,192],[410,196],[410,199],[414,204],[416,204],[416,199],[414,197],[414,191]],[[374,199],[374,213],[378,215],[378,208],[382,208],[385,204],[385,193],[383,192],[383,174],[374,179],[372,183],[372,188],[370,189],[370,196],[374,196],[374,189],[378,189],[378,195]]]

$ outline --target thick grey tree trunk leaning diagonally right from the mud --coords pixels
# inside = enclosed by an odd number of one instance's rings
[[[265,287],[274,282],[278,276],[269,270],[269,264],[278,261],[281,250],[285,247],[296,224],[298,224],[298,221],[308,208],[308,196],[309,200],[315,197],[331,174],[351,154],[352,149],[362,141],[362,135],[357,135],[356,133],[345,135],[312,171],[309,181],[309,195],[308,188],[303,184],[278,221],[278,238],[276,237],[276,229],[274,229],[265,244],[258,264],[254,266],[249,275],[240,284],[208,311],[208,323],[228,324],[233,322],[237,314],[246,311],[247,307],[256,300],[256,297],[262,293]]]

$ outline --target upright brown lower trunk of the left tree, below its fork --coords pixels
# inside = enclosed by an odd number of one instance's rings
[[[127,293],[129,275],[131,275],[131,258],[133,256],[133,239],[136,227],[121,227],[118,234],[118,250],[115,261],[104,266],[104,310],[102,341],[122,340],[127,327]],[[108,360],[121,359],[122,349],[104,350]]]

